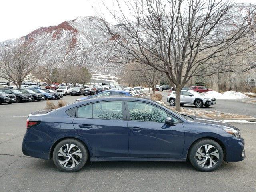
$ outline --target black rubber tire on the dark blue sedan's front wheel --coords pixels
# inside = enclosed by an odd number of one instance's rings
[[[197,162],[197,160],[199,160],[198,159],[198,157],[196,156],[196,154],[197,154],[197,151],[198,151],[198,149],[199,148],[201,148],[202,146],[204,146],[204,145],[212,145],[212,146],[214,146],[214,148],[216,148],[217,150],[218,150],[218,155],[219,155],[219,158],[218,158],[218,160],[216,161],[216,164],[214,164],[212,167],[203,167],[203,166],[201,166],[198,162]],[[204,148],[204,147],[202,147],[202,148]],[[210,149],[211,150],[211,149]],[[201,151],[202,152],[202,151]],[[204,152],[202,152],[202,154],[204,154]],[[190,148],[190,150],[189,150],[189,152],[188,152],[188,159],[190,160],[190,162],[191,162],[191,164],[194,166],[194,168],[196,168],[197,170],[199,170],[199,171],[204,171],[204,172],[210,172],[210,171],[213,171],[213,170],[216,170],[221,164],[222,164],[222,162],[223,162],[223,150],[222,150],[222,148],[221,148],[221,146],[216,142],[216,141],[214,141],[214,140],[211,140],[211,139],[202,139],[202,140],[198,140],[197,142],[195,142],[192,146],[191,146],[191,148]],[[210,156],[209,155],[209,157],[210,158],[214,158],[215,156]],[[207,160],[206,160],[206,163],[205,163],[205,166],[207,166],[208,164],[210,164],[210,158],[209,157],[207,157]],[[204,159],[202,158],[202,161],[203,161]],[[201,161],[201,160],[199,160],[199,161]]]

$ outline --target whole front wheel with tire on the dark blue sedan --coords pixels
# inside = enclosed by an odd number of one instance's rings
[[[210,172],[222,164],[223,150],[216,141],[202,139],[191,146],[188,158],[197,170]]]

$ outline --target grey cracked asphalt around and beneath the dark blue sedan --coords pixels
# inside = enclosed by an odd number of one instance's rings
[[[69,104],[79,97],[68,95],[61,100]],[[46,101],[0,106],[1,192],[256,191],[255,124],[232,124],[240,128],[246,141],[246,158],[242,162],[224,162],[214,172],[196,171],[186,162],[94,162],[87,163],[79,172],[64,173],[52,160],[22,154],[26,117],[45,105]]]

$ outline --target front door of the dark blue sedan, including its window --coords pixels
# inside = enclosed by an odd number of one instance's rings
[[[146,102],[126,101],[129,157],[181,158],[184,128],[178,118]],[[172,116],[176,125],[165,124]]]

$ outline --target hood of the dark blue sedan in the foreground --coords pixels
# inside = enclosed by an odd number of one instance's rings
[[[239,130],[237,127],[232,126],[226,122],[223,122],[222,120],[216,120],[216,119],[210,119],[210,118],[203,118],[203,117],[196,117],[196,116],[190,116],[194,119],[195,122],[211,125],[219,128],[232,128],[235,130]]]

